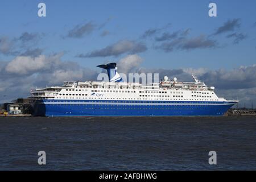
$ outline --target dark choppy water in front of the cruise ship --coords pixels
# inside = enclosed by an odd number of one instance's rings
[[[0,117],[1,170],[256,169],[255,152],[253,116]]]

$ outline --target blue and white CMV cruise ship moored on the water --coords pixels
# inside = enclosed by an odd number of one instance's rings
[[[31,90],[34,116],[217,116],[236,100],[225,100],[192,75],[194,82],[177,78],[152,84],[124,82],[116,63],[98,65],[109,81],[64,81],[62,86]]]

